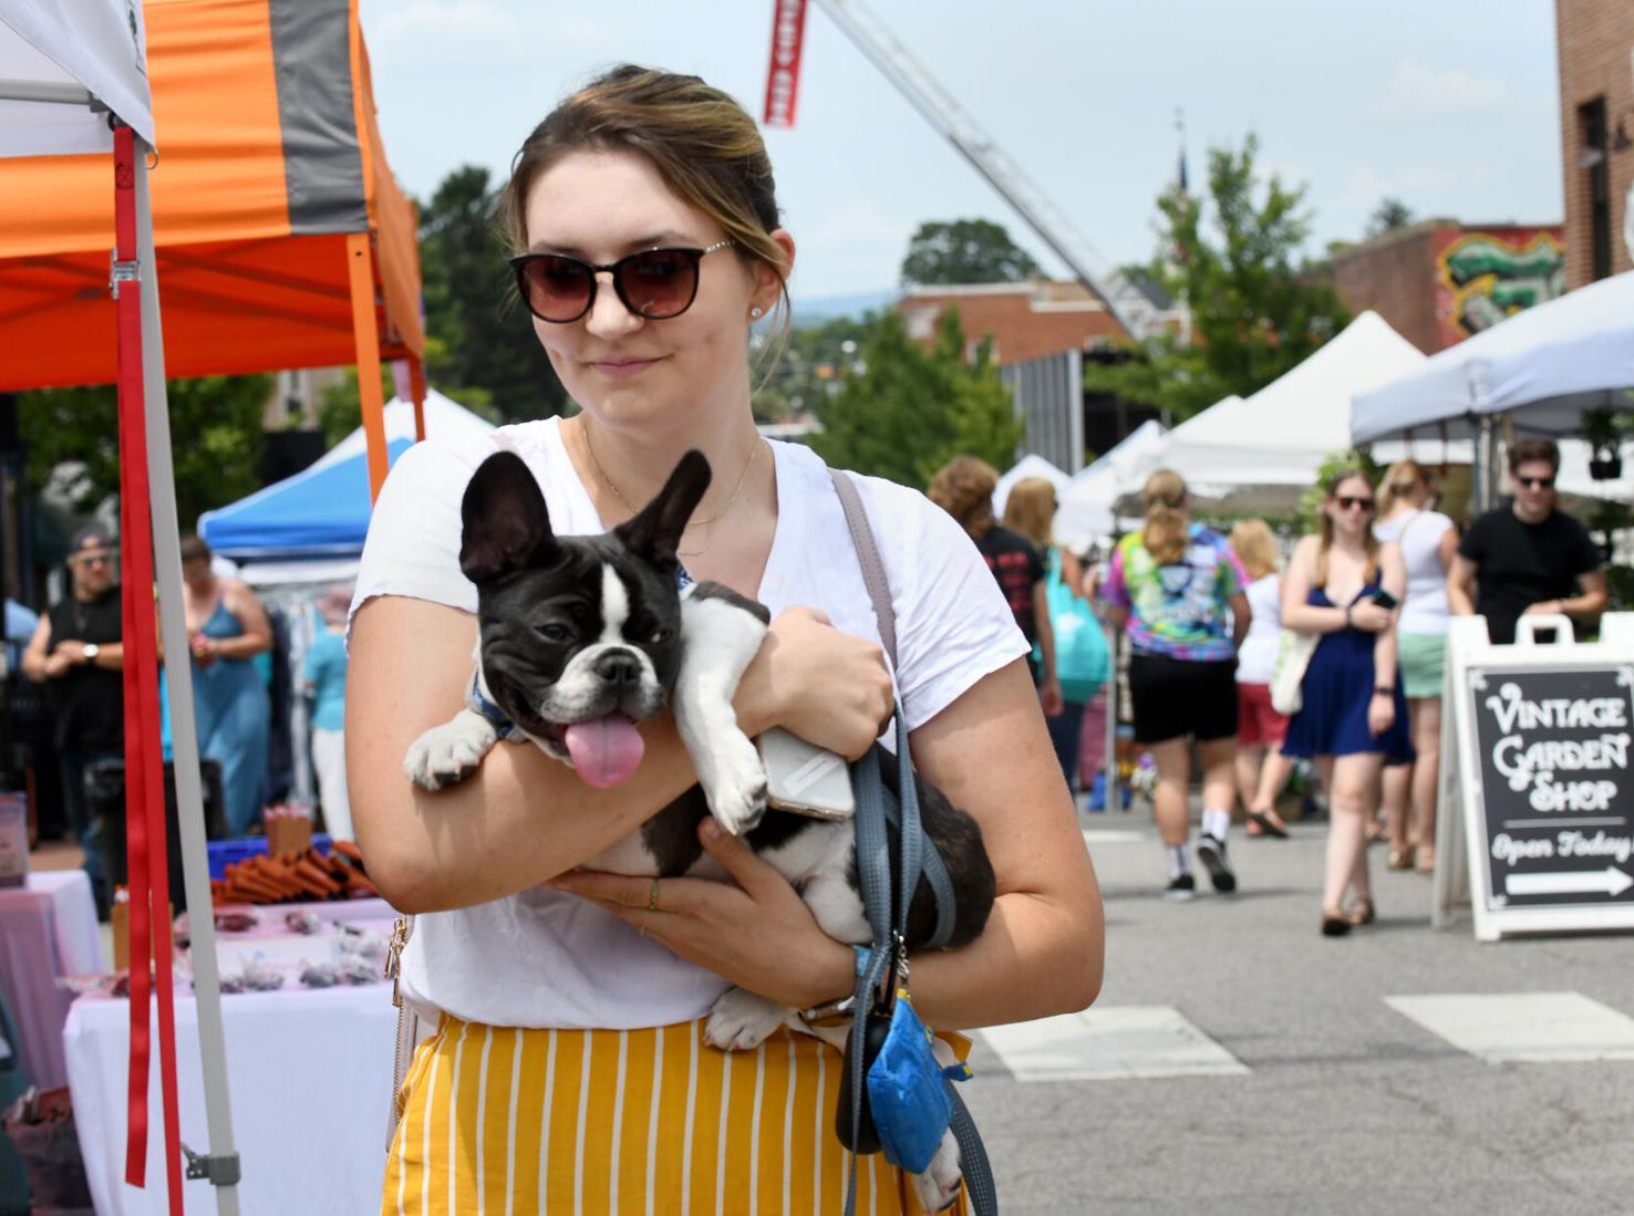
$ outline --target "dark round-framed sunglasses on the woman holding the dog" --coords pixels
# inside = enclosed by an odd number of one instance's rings
[[[565,253],[525,253],[510,264],[516,271],[516,292],[541,322],[567,325],[590,312],[601,271],[613,276],[613,291],[634,315],[665,322],[693,307],[698,263],[732,243],[717,240],[706,250],[642,250],[606,266]]]

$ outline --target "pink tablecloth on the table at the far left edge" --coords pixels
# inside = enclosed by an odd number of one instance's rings
[[[0,987],[16,1015],[21,1041],[13,1046],[41,1089],[69,1084],[62,1023],[74,994],[57,978],[106,970],[83,870],[41,870],[28,886],[0,888]]]

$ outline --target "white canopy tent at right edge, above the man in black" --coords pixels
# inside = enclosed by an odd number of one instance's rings
[[[1479,431],[1508,415],[1515,429],[1574,436],[1583,410],[1634,405],[1634,271],[1515,313],[1422,367],[1358,390],[1351,437],[1368,442],[1441,428]]]

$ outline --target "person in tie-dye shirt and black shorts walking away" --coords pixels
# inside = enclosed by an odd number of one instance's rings
[[[1108,620],[1129,633],[1134,738],[1157,762],[1152,805],[1168,850],[1173,899],[1196,893],[1186,854],[1191,814],[1191,741],[1203,764],[1203,836],[1198,857],[1214,890],[1237,890],[1226,859],[1235,798],[1237,645],[1248,632],[1248,578],[1226,537],[1191,521],[1180,473],[1145,482],[1145,526],[1113,552],[1101,597]]]

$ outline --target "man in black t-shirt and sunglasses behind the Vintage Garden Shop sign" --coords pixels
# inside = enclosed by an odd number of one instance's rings
[[[1500,645],[1515,641],[1523,615],[1539,612],[1565,614],[1582,633],[1606,607],[1606,576],[1588,530],[1556,508],[1560,449],[1552,439],[1518,439],[1508,464],[1515,498],[1464,534],[1446,578],[1448,607],[1485,617]]]

